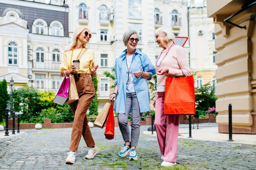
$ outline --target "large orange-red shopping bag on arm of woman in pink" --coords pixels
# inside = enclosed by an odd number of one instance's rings
[[[164,114],[195,115],[193,75],[178,78],[166,77]]]

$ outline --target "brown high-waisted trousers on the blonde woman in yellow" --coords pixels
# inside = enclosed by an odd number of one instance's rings
[[[92,79],[89,73],[74,74],[74,77],[79,99],[70,104],[74,114],[70,151],[77,151],[81,135],[83,135],[87,147],[90,148],[95,145],[86,117],[87,110],[95,94]]]

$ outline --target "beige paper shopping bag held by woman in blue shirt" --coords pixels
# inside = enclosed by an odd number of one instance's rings
[[[101,112],[97,116],[96,120],[94,121],[94,126],[97,126],[99,128],[103,128],[107,117],[108,117],[108,112],[110,109],[110,103],[106,103],[105,106],[102,108]]]

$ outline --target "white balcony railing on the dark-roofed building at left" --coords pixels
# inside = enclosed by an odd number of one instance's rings
[[[53,60],[33,60],[33,68],[59,70],[61,62],[55,62]]]

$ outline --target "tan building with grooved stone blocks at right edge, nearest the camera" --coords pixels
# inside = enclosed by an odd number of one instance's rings
[[[255,0],[207,0],[217,36],[219,132],[228,132],[228,106],[232,104],[233,132],[256,133],[255,4]]]

